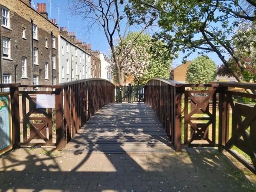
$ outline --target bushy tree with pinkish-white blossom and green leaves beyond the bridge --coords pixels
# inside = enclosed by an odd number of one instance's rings
[[[123,40],[123,54],[129,49],[131,39],[134,39],[137,33],[130,32]],[[119,47],[120,44],[116,44],[116,55],[118,55]],[[152,77],[169,78],[172,58],[170,51],[166,49],[163,42],[153,41],[148,33],[141,34],[123,60],[124,74],[134,76],[135,84],[145,84]],[[110,68],[113,73],[115,73],[114,67],[112,65]]]

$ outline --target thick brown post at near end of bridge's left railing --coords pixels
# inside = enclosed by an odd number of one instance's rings
[[[62,88],[55,90],[55,110],[56,110],[56,148],[64,148],[64,121],[63,121],[63,93]]]

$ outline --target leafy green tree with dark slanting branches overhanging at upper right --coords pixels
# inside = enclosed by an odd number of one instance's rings
[[[132,0],[133,7],[142,3],[148,10],[159,14],[159,25],[163,31],[157,34],[163,38],[173,52],[183,51],[206,54],[215,52],[224,66],[237,81],[241,77],[233,70],[230,58],[237,64],[241,74],[246,69],[236,52],[233,41],[239,22],[255,23],[256,3],[252,0]],[[152,12],[152,11],[151,11]],[[188,55],[189,55],[188,54]]]

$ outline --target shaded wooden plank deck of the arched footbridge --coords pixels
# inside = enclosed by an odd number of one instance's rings
[[[99,110],[64,151],[75,153],[174,152],[154,111],[144,103],[114,103]]]

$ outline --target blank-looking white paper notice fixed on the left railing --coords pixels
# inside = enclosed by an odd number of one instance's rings
[[[55,108],[55,95],[36,95],[36,108]]]

